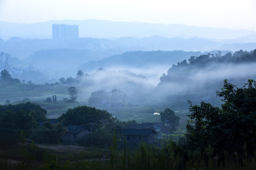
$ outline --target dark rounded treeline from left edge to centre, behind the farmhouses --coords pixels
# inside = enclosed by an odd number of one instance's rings
[[[18,143],[21,132],[36,143],[60,144],[67,131],[65,127],[72,125],[91,129],[90,123],[93,123],[93,138],[80,138],[76,143],[108,148],[115,128],[120,136],[121,128],[136,124],[134,120],[119,121],[106,110],[88,106],[68,109],[56,120],[46,119],[46,113],[39,105],[30,102],[0,105],[0,147]]]

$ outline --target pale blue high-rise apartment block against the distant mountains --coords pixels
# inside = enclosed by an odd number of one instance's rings
[[[79,38],[78,25],[53,24],[53,39]]]

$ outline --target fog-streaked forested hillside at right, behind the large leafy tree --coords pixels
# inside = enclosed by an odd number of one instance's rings
[[[161,96],[160,100],[165,102],[181,100],[180,104],[187,100],[219,101],[215,92],[223,85],[224,79],[241,86],[247,79],[256,78],[255,68],[256,50],[192,56],[173,65],[160,77],[155,95]]]

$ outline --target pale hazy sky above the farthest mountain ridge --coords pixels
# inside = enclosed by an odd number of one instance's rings
[[[256,0],[0,0],[0,21],[62,19],[256,30]]]

